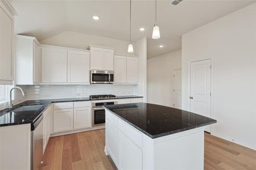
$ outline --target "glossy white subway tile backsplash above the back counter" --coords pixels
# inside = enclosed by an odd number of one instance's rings
[[[134,95],[136,85],[42,85],[27,86],[27,100],[89,97],[89,95]]]

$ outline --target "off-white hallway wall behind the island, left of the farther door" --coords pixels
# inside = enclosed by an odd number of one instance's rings
[[[147,60],[148,103],[173,107],[175,69],[181,69],[181,49]]]

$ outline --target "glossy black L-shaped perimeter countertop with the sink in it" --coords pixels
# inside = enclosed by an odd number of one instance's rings
[[[139,98],[142,96],[116,96],[113,99],[128,99]],[[111,100],[111,99],[97,99],[97,100]],[[66,99],[46,99],[46,100],[27,100],[22,103],[13,106],[13,109],[3,109],[0,111],[0,126],[10,126],[19,124],[31,124],[31,130],[33,130],[33,123],[43,114],[43,112],[49,107],[51,103],[59,102],[72,102],[72,101],[95,101],[90,100],[89,97],[83,98],[66,98]],[[14,109],[24,105],[42,105],[39,109],[36,106],[31,107],[30,111],[16,111]]]

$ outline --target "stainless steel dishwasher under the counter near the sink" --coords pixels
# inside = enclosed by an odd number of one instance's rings
[[[31,169],[43,163],[43,114],[31,126]]]

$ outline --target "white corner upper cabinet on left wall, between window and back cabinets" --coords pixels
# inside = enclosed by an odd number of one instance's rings
[[[17,35],[15,39],[15,82],[32,85],[41,82],[41,48],[35,37]]]

